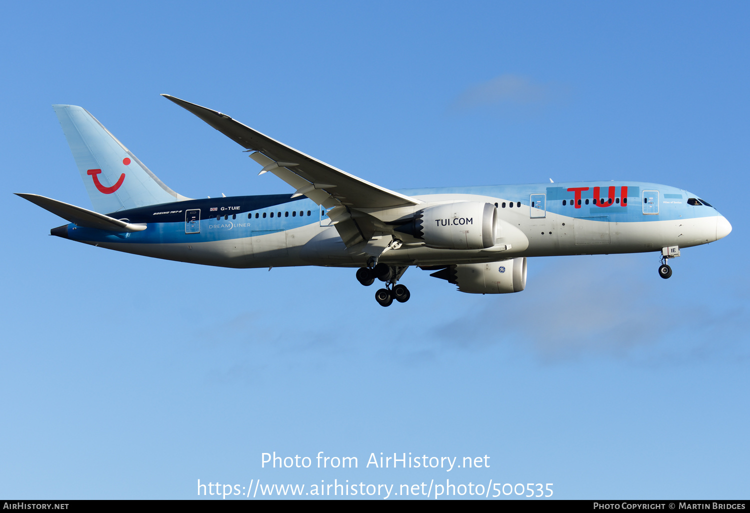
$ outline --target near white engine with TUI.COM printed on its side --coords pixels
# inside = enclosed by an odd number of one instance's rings
[[[497,208],[491,203],[455,201],[423,208],[395,231],[425,242],[428,248],[491,248],[497,238]]]

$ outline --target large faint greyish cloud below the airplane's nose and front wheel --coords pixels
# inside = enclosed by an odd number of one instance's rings
[[[694,295],[664,301],[664,284],[644,265],[628,255],[558,257],[529,275],[522,293],[484,296],[486,304],[472,317],[436,326],[431,335],[464,350],[511,344],[544,361],[605,356],[667,365],[747,358],[724,334],[747,324],[742,308],[717,313]]]

